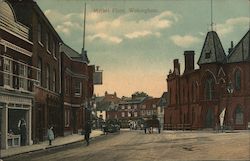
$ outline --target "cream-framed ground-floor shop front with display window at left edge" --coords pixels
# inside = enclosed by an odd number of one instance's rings
[[[0,91],[1,149],[31,145],[31,94]]]

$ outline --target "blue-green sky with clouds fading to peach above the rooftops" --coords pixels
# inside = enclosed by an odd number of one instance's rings
[[[160,97],[167,91],[173,59],[184,69],[184,51],[201,49],[211,31],[211,0],[37,0],[64,43],[81,52],[84,3],[87,4],[85,49],[90,64],[103,70],[97,96],[119,97],[144,91]],[[249,0],[213,0],[213,30],[225,52],[249,29]]]

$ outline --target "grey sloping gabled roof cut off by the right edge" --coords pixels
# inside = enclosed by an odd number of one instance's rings
[[[250,61],[250,30],[243,36],[240,42],[228,55],[228,63]]]

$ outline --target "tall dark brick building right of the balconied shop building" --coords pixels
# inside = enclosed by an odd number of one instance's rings
[[[63,115],[60,104],[59,54],[59,44],[62,40],[36,2],[9,1],[17,20],[30,28],[30,39],[33,42],[32,64],[40,70],[38,74],[33,72],[33,77],[39,81],[34,84],[33,141],[45,140],[47,128],[51,125],[56,136],[62,135],[62,117],[57,117]]]

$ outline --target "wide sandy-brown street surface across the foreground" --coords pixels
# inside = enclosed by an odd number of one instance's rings
[[[121,131],[90,141],[5,158],[4,161],[249,160],[250,133]]]

